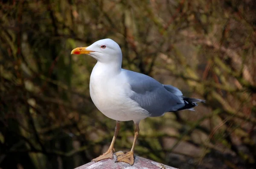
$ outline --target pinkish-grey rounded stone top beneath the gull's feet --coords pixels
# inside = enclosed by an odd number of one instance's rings
[[[125,162],[115,163],[115,161],[116,155],[114,154],[112,160],[104,159],[102,161],[98,161],[97,163],[93,161],[84,164],[83,166],[79,166],[76,169],[176,169],[174,167],[166,166],[136,155],[133,166],[130,166],[130,164]]]

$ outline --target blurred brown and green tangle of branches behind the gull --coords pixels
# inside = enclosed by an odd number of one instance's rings
[[[1,0],[0,168],[72,169],[108,149],[115,121],[90,99],[96,60],[73,48],[111,38],[123,68],[205,99],[140,123],[135,154],[180,169],[256,164],[254,0]],[[128,151],[132,121],[116,151]]]

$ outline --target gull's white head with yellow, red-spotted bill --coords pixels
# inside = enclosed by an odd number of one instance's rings
[[[71,54],[88,54],[99,62],[122,62],[122,51],[112,39],[101,39],[87,47],[75,48]]]

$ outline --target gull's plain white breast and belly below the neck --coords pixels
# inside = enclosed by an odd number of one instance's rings
[[[113,80],[114,79],[114,80]],[[129,98],[130,85],[118,77],[91,74],[90,96],[95,106],[108,118],[118,121],[140,121],[148,111]]]

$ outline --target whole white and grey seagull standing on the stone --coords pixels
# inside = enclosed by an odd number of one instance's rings
[[[105,116],[116,120],[111,145],[107,152],[92,161],[113,159],[114,143],[120,121],[134,121],[134,141],[129,152],[116,153],[116,162],[134,164],[134,147],[140,132],[139,123],[147,117],[158,117],[166,112],[194,110],[201,99],[184,97],[172,85],[163,85],[142,73],[122,69],[122,51],[112,39],[101,39],[88,47],[79,47],[71,54],[88,54],[97,60],[90,75],[90,97]]]

